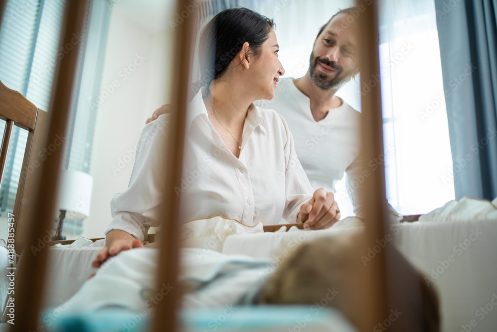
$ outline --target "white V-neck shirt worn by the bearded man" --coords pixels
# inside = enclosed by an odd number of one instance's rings
[[[336,183],[346,173],[347,192],[356,216],[363,218],[359,187],[362,184],[360,157],[361,113],[343,102],[330,109],[324,119],[316,121],[311,101],[293,83],[280,79],[271,101],[254,103],[275,110],[288,123],[295,139],[295,150],[314,190],[325,188],[335,193]],[[389,210],[395,213],[389,206]]]

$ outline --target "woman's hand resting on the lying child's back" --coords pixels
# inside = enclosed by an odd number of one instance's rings
[[[91,262],[91,267],[100,267],[107,259],[117,255],[121,251],[143,248],[142,241],[136,239],[133,235],[124,230],[113,229],[107,233],[105,246],[98,252],[95,259]]]

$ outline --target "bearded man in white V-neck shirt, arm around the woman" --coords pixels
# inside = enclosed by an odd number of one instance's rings
[[[295,150],[314,189],[335,193],[335,184],[347,173],[347,191],[354,213],[363,218],[359,201],[362,169],[360,113],[335,96],[359,73],[355,7],[339,10],[322,26],[304,77],[280,79],[271,101],[257,106],[283,115],[293,134]],[[167,112],[156,110],[146,123]],[[397,215],[389,206],[392,214]]]

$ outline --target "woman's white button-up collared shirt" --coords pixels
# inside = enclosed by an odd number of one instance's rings
[[[237,158],[210,122],[203,92],[188,107],[183,175],[181,186],[174,188],[181,196],[180,222],[217,215],[248,226],[260,221],[277,224],[281,218],[297,222],[299,208],[313,190],[283,117],[251,105]],[[143,241],[151,226],[167,218],[159,215],[167,126],[168,114],[164,114],[143,129],[128,189],[112,199],[113,220],[105,234],[121,229]]]

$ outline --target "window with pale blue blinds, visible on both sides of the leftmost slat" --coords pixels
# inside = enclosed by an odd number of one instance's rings
[[[59,48],[65,3],[66,0],[7,1],[0,27],[0,80],[38,109],[49,111],[57,62],[82,43],[63,167],[88,172],[97,111],[93,101],[100,89],[111,4],[91,1],[85,30]],[[27,131],[15,127],[0,188],[1,218],[5,211],[13,209],[26,140]],[[81,221],[68,221],[66,226],[72,233],[82,231]],[[0,224],[0,236],[4,231],[6,227]]]

